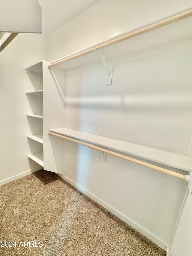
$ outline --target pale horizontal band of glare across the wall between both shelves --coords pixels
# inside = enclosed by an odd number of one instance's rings
[[[183,100],[185,99],[185,100]],[[182,111],[191,105],[190,92],[174,94],[130,94],[130,95],[98,95],[89,97],[66,97],[65,104],[69,107],[88,107],[92,109],[140,110],[148,111],[177,110]]]

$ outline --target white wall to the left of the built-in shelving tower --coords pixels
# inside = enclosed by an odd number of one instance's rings
[[[37,34],[19,34],[1,52],[0,184],[13,180],[12,177],[16,175],[39,168],[27,157],[30,148],[26,135],[31,134],[31,131],[26,113],[31,113],[31,107],[25,92],[34,88],[25,68],[45,58],[46,37]]]

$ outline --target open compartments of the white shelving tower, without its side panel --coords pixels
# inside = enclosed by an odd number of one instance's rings
[[[26,73],[29,76],[29,79],[32,82],[34,87],[34,91],[26,92],[26,95],[29,96],[29,104],[31,106],[32,113],[26,114],[27,117],[33,117],[35,119],[43,119],[43,115],[39,113],[43,113],[43,66],[42,61],[38,62],[32,66],[27,67]],[[29,134],[27,138],[33,141],[33,143],[29,140],[29,146],[31,149],[31,153],[28,157],[35,161],[37,164],[44,167],[43,161],[43,127],[42,122],[38,123],[35,120],[30,122],[32,127],[31,130],[35,129],[39,133],[38,134]],[[37,126],[37,128],[35,127]],[[30,145],[30,143],[32,145]],[[38,152],[37,152],[38,151]]]

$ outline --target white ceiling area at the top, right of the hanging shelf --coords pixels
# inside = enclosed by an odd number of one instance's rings
[[[43,9],[43,34],[48,35],[99,0],[38,0]]]

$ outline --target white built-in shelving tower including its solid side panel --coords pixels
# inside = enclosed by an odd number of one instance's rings
[[[64,143],[61,140],[50,141],[47,131],[55,125],[64,125],[64,102],[60,97],[64,90],[64,71],[54,68],[53,72],[47,68],[48,64],[42,60],[25,69],[32,83],[32,89],[26,92],[31,107],[31,111],[26,114],[31,130],[31,134],[27,134],[31,150],[28,157],[44,167],[44,170],[62,173],[62,164],[59,166],[58,156],[55,158],[52,143],[60,152],[60,159],[63,158]]]

